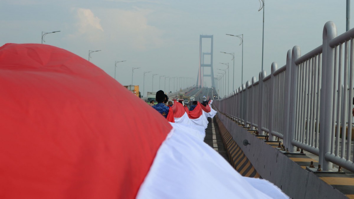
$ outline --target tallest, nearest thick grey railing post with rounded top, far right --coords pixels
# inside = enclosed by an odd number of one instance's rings
[[[333,163],[325,159],[325,154],[331,151],[333,117],[334,48],[329,45],[329,42],[336,36],[336,25],[331,21],[327,22],[323,28],[319,143],[319,164],[324,171],[333,169]]]

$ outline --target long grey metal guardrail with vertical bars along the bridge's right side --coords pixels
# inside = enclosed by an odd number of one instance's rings
[[[214,105],[259,135],[268,133],[269,140],[283,139],[289,152],[299,147],[319,155],[325,171],[335,163],[354,172],[348,125],[353,123],[354,29],[337,36],[335,24],[327,22],[322,38],[322,45],[303,56],[294,46],[285,66],[278,69],[273,62],[270,75],[261,71],[258,81],[253,77]]]

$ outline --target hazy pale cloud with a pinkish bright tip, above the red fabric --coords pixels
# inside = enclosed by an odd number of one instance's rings
[[[164,31],[149,24],[153,10],[138,7],[129,10],[96,8],[94,11],[73,8],[75,21],[70,24],[74,33],[69,40],[83,40],[120,49],[145,51],[164,44]],[[152,23],[152,22],[150,22]]]

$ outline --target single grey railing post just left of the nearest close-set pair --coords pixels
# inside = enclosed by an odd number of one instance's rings
[[[269,114],[268,114],[268,126],[269,126],[269,140],[274,141],[275,136],[272,135],[273,131],[273,121],[274,121],[274,90],[275,86],[279,87],[279,85],[275,85],[275,76],[274,72],[278,69],[278,64],[276,62],[272,63],[271,72],[270,72],[270,104],[269,104]],[[276,113],[279,114],[279,113]]]

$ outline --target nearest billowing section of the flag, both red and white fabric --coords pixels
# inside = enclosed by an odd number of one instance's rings
[[[3,199],[287,198],[66,50],[5,44],[0,85]]]

